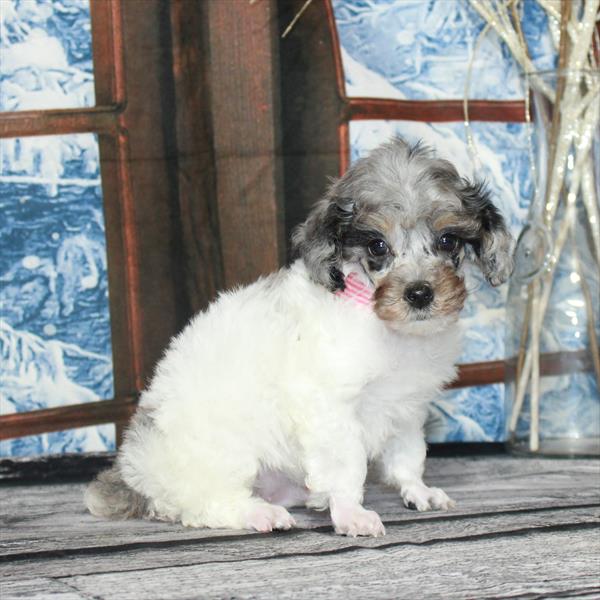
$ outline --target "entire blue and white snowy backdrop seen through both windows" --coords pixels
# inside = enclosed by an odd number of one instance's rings
[[[483,28],[467,0],[333,0],[349,96],[462,99],[467,64]],[[1,0],[0,109],[94,105],[89,0]],[[545,16],[525,2],[525,35],[539,68],[554,53]],[[518,99],[516,64],[493,33],[473,64],[471,98]],[[477,151],[515,233],[532,182],[527,130],[473,123]],[[462,123],[360,121],[352,159],[392,134],[423,139],[465,175],[473,162]],[[110,316],[98,145],[94,135],[1,141],[0,322],[2,414],[93,402],[113,394]],[[463,314],[462,362],[504,356],[506,289],[476,272]],[[431,441],[497,441],[503,386],[446,393],[434,407]],[[0,455],[108,450],[111,426],[0,443]]]

